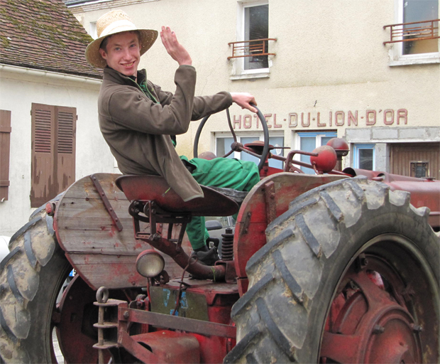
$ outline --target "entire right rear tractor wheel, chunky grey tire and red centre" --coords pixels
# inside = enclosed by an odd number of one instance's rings
[[[428,215],[366,178],[293,200],[246,265],[224,363],[439,363],[440,238]]]

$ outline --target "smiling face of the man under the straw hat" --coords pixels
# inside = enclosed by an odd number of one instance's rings
[[[106,46],[99,48],[107,65],[126,76],[135,76],[141,59],[139,37],[134,32],[114,34],[107,39]]]

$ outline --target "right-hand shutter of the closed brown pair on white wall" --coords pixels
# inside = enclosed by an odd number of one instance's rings
[[[57,149],[55,175],[58,193],[75,182],[75,134],[77,113],[75,107],[55,107]]]

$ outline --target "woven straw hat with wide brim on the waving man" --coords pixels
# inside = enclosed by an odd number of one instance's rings
[[[96,68],[105,68],[107,63],[99,53],[99,46],[106,36],[122,33],[124,31],[138,31],[140,34],[141,55],[150,49],[151,45],[158,38],[158,31],[152,29],[138,29],[122,10],[112,10],[97,20],[98,38],[87,45],[87,62]]]

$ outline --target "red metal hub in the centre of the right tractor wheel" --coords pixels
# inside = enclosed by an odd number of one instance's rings
[[[399,282],[389,269],[385,272],[380,260],[369,257],[370,262],[366,261],[362,257],[349,269],[331,305],[321,362],[422,363],[421,328],[402,304],[402,297],[393,294],[400,289]],[[362,268],[356,269],[359,262]]]

